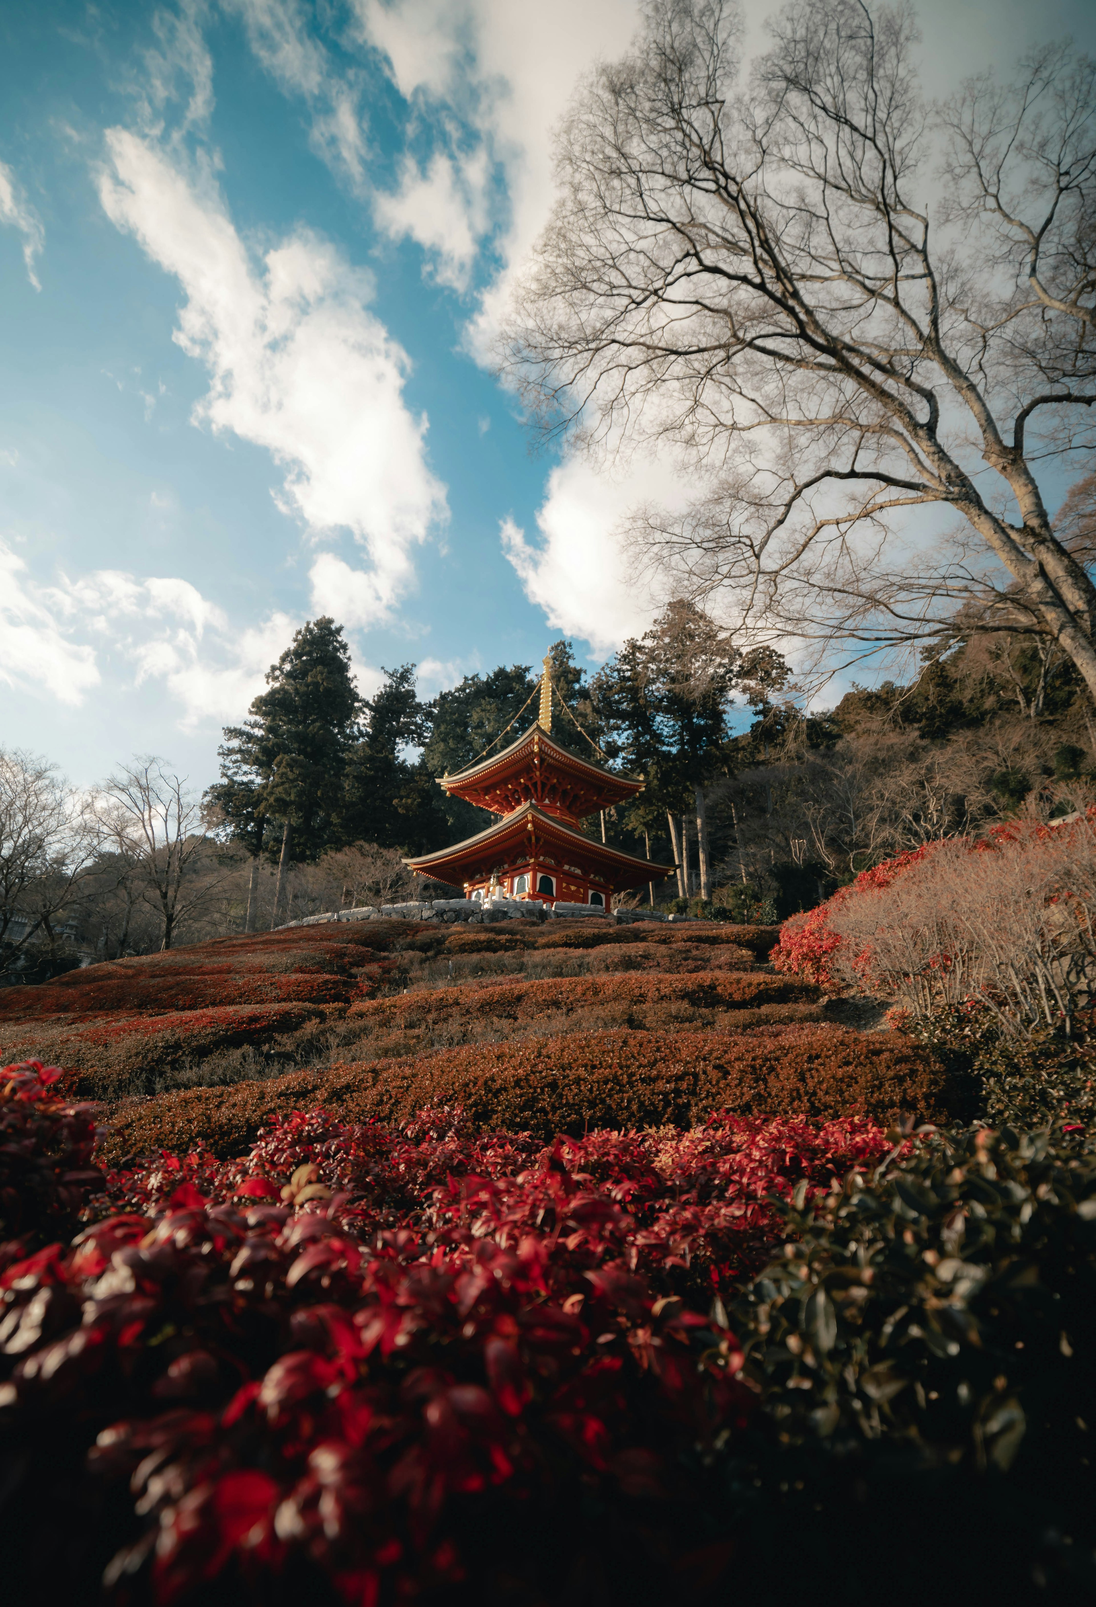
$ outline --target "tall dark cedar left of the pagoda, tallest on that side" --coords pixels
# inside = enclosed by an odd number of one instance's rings
[[[280,828],[276,921],[289,861],[315,860],[337,842],[346,760],[362,712],[342,627],[328,615],[302,625],[267,670],[267,686],[241,726],[225,726],[222,783],[211,792],[256,855],[264,845],[259,823]]]

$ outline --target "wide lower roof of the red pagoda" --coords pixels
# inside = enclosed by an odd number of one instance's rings
[[[614,892],[641,887],[673,871],[670,865],[652,865],[635,853],[595,842],[535,804],[522,804],[505,820],[477,831],[464,842],[403,863],[418,874],[450,884],[479,881],[493,871],[535,863],[599,881]]]

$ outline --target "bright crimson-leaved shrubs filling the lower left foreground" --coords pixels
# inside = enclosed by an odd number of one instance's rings
[[[56,1155],[76,1118],[26,1075]],[[545,1147],[313,1112],[108,1175],[76,1239],[0,1249],[14,1597],[95,1599],[103,1568],[164,1607],[725,1589],[752,1395],[722,1297],[773,1194],[885,1149],[858,1120]]]

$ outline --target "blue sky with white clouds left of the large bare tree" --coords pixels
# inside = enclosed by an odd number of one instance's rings
[[[922,0],[934,93],[1096,8]],[[757,32],[765,8],[749,13]],[[664,471],[532,456],[487,352],[632,0],[0,10],[0,744],[204,786],[292,630],[365,691],[596,662]],[[659,480],[662,474],[662,480]]]

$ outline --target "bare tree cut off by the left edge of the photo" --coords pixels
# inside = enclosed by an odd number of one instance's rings
[[[58,942],[98,847],[95,820],[43,759],[0,749],[0,974]]]

